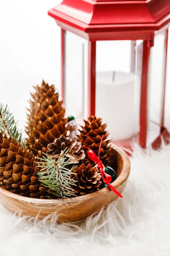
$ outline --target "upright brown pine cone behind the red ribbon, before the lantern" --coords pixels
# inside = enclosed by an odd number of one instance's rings
[[[98,156],[99,145],[103,135],[104,138],[102,142],[102,148],[100,151],[100,160],[102,161],[104,166],[111,165],[113,151],[111,146],[109,145],[111,141],[107,140],[109,135],[108,132],[105,131],[107,125],[102,125],[102,118],[96,118],[96,116],[90,116],[88,118],[88,121],[84,120],[84,122],[85,126],[81,126],[82,130],[79,130],[80,135],[78,135],[78,137],[79,142],[82,143],[82,150],[85,151],[85,165],[87,165],[88,163],[91,163],[91,165],[93,166],[95,165],[95,163],[88,158],[87,153],[91,149]]]

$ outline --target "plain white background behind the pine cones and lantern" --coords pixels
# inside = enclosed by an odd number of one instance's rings
[[[34,91],[33,85],[41,84],[44,79],[60,90],[60,29],[54,19],[47,15],[48,9],[59,2],[61,1],[0,0],[0,102],[8,104],[15,118],[20,119],[20,128],[24,128],[25,108],[28,106],[29,93]],[[118,51],[121,51],[121,46],[118,47]],[[126,56],[125,49],[124,54],[127,61],[128,52]],[[168,59],[170,60],[170,50]],[[122,66],[126,65],[126,61],[122,62]],[[102,57],[99,58],[98,65],[102,66]],[[168,98],[170,99],[170,88],[167,89],[167,102]],[[169,119],[170,115],[166,111],[168,126]]]

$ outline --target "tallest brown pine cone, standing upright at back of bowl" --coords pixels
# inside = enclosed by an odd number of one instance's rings
[[[46,152],[49,143],[61,135],[66,136],[67,119],[64,118],[63,101],[59,101],[59,93],[55,93],[54,85],[49,86],[42,81],[41,87],[37,85],[34,88],[36,93],[31,93],[34,101],[30,100],[26,133],[30,150],[40,156],[39,151]]]

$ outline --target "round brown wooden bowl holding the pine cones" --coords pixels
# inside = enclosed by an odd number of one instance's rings
[[[122,193],[130,173],[130,160],[118,146],[113,145],[113,151],[118,177],[112,185]],[[57,211],[58,222],[82,221],[117,198],[108,187],[88,195],[59,200],[27,198],[0,188],[0,203],[11,212],[32,217],[38,215],[42,219]]]

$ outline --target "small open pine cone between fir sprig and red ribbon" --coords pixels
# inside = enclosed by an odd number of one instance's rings
[[[82,163],[73,172],[74,175],[71,175],[71,179],[77,180],[77,183],[73,186],[74,192],[77,195],[85,195],[99,190],[99,186],[102,184],[102,177],[96,166],[93,167],[90,163],[88,166],[85,166]]]

